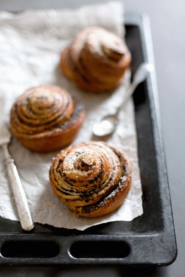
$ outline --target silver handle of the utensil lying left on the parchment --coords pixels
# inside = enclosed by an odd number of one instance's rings
[[[8,152],[7,145],[2,145],[5,155],[8,176],[11,183],[12,191],[16,201],[17,211],[21,222],[21,227],[25,231],[31,231],[34,228],[34,222],[28,207],[26,194],[21,184],[17,168],[14,165],[14,160]]]

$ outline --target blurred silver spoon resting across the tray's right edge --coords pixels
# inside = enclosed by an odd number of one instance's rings
[[[108,114],[107,116],[98,117],[93,124],[93,134],[98,137],[103,137],[106,135],[110,135],[116,129],[116,126],[119,123],[119,111],[122,106],[124,106],[127,101],[130,99],[131,95],[134,93],[138,84],[145,81],[146,77],[150,72],[154,70],[154,66],[151,63],[141,63],[141,65],[136,70],[136,73],[133,77],[133,81],[126,93],[126,98],[121,103],[121,105],[117,108],[115,114]]]

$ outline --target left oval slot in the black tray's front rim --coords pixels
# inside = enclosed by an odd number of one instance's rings
[[[1,247],[1,255],[8,258],[54,258],[59,252],[59,245],[48,241],[7,241]]]

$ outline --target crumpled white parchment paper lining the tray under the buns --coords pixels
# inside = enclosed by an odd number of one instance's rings
[[[16,15],[0,13],[1,104],[2,97],[5,100],[0,117],[4,116],[7,124],[11,105],[19,94],[39,84],[57,84],[72,96],[80,98],[86,107],[85,122],[73,144],[97,140],[92,135],[93,121],[98,115],[114,111],[123,99],[129,81],[113,93],[95,95],[75,88],[58,68],[62,49],[69,45],[80,30],[93,25],[123,36],[122,4],[114,1],[83,6],[77,10],[29,10]],[[12,137],[10,151],[35,222],[84,230],[105,222],[129,221],[143,213],[134,117],[131,99],[120,112],[121,122],[116,132],[107,139],[107,142],[123,149],[130,158],[133,179],[130,192],[120,208],[94,219],[74,217],[53,192],[49,183],[49,168],[52,157],[59,151],[49,154],[32,153]],[[19,220],[1,149],[0,160],[0,215]]]

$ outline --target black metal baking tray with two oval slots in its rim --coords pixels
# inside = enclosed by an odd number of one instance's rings
[[[132,71],[143,61],[154,64],[149,17],[129,13],[125,24]],[[0,217],[0,265],[161,266],[176,259],[155,72],[138,86],[134,103],[143,215],[85,231],[36,223],[30,233],[19,222]]]

